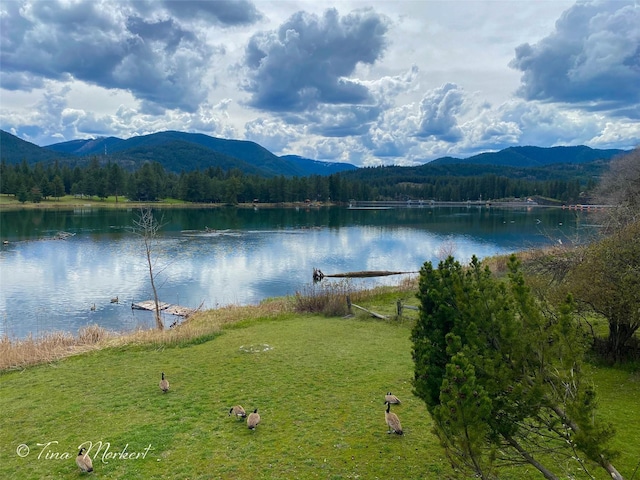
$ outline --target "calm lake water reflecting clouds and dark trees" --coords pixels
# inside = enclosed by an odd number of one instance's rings
[[[164,209],[154,246],[162,301],[204,308],[294,294],[325,274],[417,271],[443,252],[468,261],[571,241],[590,231],[587,213],[548,208],[426,207]],[[97,323],[152,325],[136,210],[0,212],[0,335],[20,338]],[[74,234],[59,239],[59,232]],[[395,284],[401,277],[354,280]],[[327,279],[325,279],[325,282]],[[355,286],[354,285],[354,286]],[[110,300],[118,297],[118,303]],[[92,305],[95,304],[95,310]],[[178,319],[165,315],[165,324]]]

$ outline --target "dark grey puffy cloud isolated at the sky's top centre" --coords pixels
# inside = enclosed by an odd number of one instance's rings
[[[349,78],[359,63],[372,64],[385,49],[388,19],[371,9],[340,17],[298,12],[278,30],[259,32],[245,50],[249,105],[272,112],[300,112],[321,104],[361,105],[369,90]]]

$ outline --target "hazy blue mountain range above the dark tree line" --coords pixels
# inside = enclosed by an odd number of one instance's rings
[[[522,146],[509,147],[498,152],[481,153],[465,159],[443,157],[418,167],[383,167],[365,170],[380,173],[385,169],[388,169],[386,173],[406,170],[405,173],[409,173],[428,167],[434,172],[442,171],[451,174],[454,170],[461,170],[456,167],[459,165],[474,166],[474,174],[482,170],[499,172],[500,169],[496,167],[534,170],[550,167],[550,170],[553,170],[557,169],[557,165],[567,165],[571,170],[577,165],[593,162],[603,165],[622,153],[625,151],[592,149],[584,145],[550,148]],[[291,177],[363,170],[349,163],[324,162],[297,155],[277,156],[255,142],[222,139],[200,133],[165,131],[126,140],[117,137],[99,137],[39,147],[0,130],[0,159],[7,164],[18,164],[26,160],[30,165],[54,161],[83,165],[94,157],[100,161],[106,158],[131,170],[139,168],[144,162],[155,161],[174,173],[219,167],[225,171],[238,169],[247,174],[266,177],[278,175]]]

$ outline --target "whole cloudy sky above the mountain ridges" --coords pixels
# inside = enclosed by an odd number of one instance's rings
[[[2,0],[0,128],[413,165],[640,144],[640,0]]]

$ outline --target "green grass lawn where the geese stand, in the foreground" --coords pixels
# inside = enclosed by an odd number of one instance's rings
[[[94,444],[91,478],[450,478],[425,405],[411,394],[409,335],[409,321],[282,314],[204,343],[107,348],[2,373],[0,478],[85,477],[74,461],[83,442]],[[631,478],[640,377],[598,368],[595,379],[602,415],[618,428],[615,465]],[[389,390],[403,401],[392,407],[403,436],[387,434]],[[255,431],[228,416],[238,403],[258,408]],[[57,443],[39,445],[48,442]],[[114,456],[125,447],[140,458]],[[527,468],[501,478],[540,477]]]

